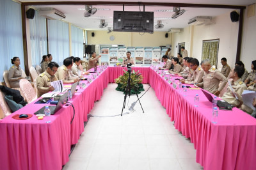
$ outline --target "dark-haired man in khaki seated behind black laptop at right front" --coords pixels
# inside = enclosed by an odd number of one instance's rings
[[[236,92],[237,98],[241,98],[244,89],[247,89],[245,83],[241,79],[243,74],[244,74],[243,66],[236,65],[235,68],[231,70],[229,75],[230,79],[233,79],[231,84],[232,84],[232,88],[234,89],[234,92]],[[226,102],[228,102],[229,104],[232,104],[236,107],[241,107],[241,103],[239,102],[238,99],[236,99],[236,97],[234,97],[234,93],[231,91],[229,86],[228,86],[227,92],[224,93],[223,97],[221,98]]]

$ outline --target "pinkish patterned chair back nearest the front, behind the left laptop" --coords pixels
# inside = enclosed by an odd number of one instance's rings
[[[20,91],[23,93],[28,103],[33,102],[36,99],[36,92],[27,79],[20,80]]]

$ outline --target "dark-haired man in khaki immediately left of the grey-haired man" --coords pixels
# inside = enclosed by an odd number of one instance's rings
[[[180,81],[186,84],[197,84],[199,82],[202,82],[203,76],[204,76],[204,70],[202,70],[202,68],[199,66],[198,59],[196,58],[191,59],[191,61],[189,61],[189,65],[193,70],[193,76],[191,77],[191,79],[186,79],[186,81],[184,79],[181,79]]]

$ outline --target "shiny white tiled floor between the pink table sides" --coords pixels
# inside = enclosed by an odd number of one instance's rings
[[[147,90],[150,86],[144,84]],[[63,169],[143,170],[200,169],[193,144],[175,130],[173,122],[150,88],[131,112],[137,97],[127,98],[109,84],[91,112],[92,116]],[[143,91],[139,97],[145,93]],[[129,107],[127,107],[127,105]]]

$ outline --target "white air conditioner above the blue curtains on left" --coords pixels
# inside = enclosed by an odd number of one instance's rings
[[[40,8],[39,15],[45,17],[46,19],[60,20],[65,19],[64,13],[54,9],[54,8]]]

